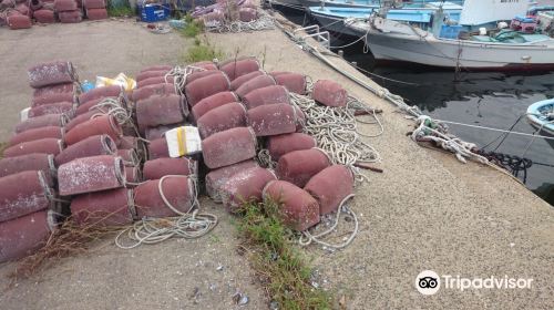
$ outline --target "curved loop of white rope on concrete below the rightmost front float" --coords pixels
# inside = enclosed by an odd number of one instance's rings
[[[352,210],[350,210],[350,208],[348,208],[348,206],[345,206],[345,204],[346,204],[346,202],[348,202],[349,199],[351,199],[353,197],[355,197],[355,195],[351,194],[351,195],[348,195],[345,199],[342,199],[342,202],[340,202],[339,208],[337,210],[337,217],[335,219],[335,223],[331,225],[331,227],[329,229],[327,229],[322,232],[316,234],[316,235],[311,235],[311,232],[309,232],[309,229],[307,229],[307,230],[302,231],[302,235],[298,239],[298,244],[302,247],[306,247],[306,246],[309,246],[310,244],[314,242],[314,244],[318,244],[320,246],[324,246],[327,248],[332,248],[332,249],[341,249],[341,248],[345,248],[348,245],[350,245],[352,242],[352,240],[356,238],[356,236],[358,235],[358,226],[359,225],[358,225],[358,217],[356,216],[356,214]],[[338,245],[334,245],[334,244],[321,240],[320,238],[322,238],[322,237],[325,237],[325,236],[327,236],[336,230],[337,226],[339,225],[339,219],[340,219],[341,213],[351,216],[353,219],[355,227],[353,227],[352,232],[350,234],[350,237],[348,237],[342,244],[338,244]]]

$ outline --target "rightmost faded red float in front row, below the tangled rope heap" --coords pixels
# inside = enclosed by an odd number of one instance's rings
[[[319,214],[336,211],[342,199],[353,194],[352,172],[343,165],[332,165],[312,176],[304,189],[316,198]]]

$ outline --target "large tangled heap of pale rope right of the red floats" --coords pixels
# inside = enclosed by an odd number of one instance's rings
[[[368,180],[355,164],[378,163],[381,157],[360,138],[355,110],[319,105],[312,99],[295,93],[290,93],[290,99],[306,115],[304,131],[314,136],[317,146],[329,155],[331,162],[348,166],[357,182]]]

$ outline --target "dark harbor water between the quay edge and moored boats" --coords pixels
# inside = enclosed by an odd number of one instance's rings
[[[304,12],[281,10],[299,25],[315,23]],[[351,40],[331,37],[331,45],[345,45]],[[377,65],[370,53],[363,53],[361,42],[342,50],[345,59],[356,62],[373,81],[437,120],[532,134],[536,131],[524,115],[527,106],[554,97],[554,72],[455,74],[453,70],[406,63]],[[517,177],[527,188],[554,205],[554,140],[533,140],[515,134],[506,136],[501,132],[454,124],[450,124],[449,128],[485,151],[531,159],[532,166],[521,170]]]

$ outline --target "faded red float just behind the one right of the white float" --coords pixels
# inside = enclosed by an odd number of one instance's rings
[[[202,138],[235,127],[246,126],[246,108],[238,102],[232,102],[208,111],[197,120]]]

